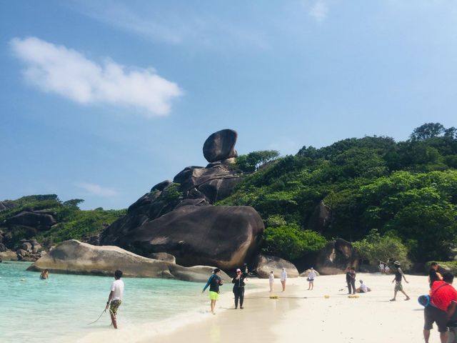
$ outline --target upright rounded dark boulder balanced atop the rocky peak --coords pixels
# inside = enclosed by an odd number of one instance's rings
[[[236,131],[230,129],[211,134],[203,144],[203,154],[206,161],[211,163],[238,156],[235,150],[237,136]]]

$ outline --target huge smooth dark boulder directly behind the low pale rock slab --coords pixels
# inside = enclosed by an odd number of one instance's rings
[[[144,256],[167,252],[184,266],[233,269],[251,259],[262,233],[263,221],[252,207],[188,205],[128,231],[111,226],[101,242]]]

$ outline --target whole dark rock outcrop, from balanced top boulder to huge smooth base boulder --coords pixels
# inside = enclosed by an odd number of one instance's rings
[[[188,166],[173,182],[152,187],[126,216],[101,234],[100,244],[149,256],[166,252],[178,264],[233,269],[248,262],[260,244],[261,217],[252,207],[216,207],[241,180],[233,163],[236,131],[211,134],[204,144],[208,166]]]

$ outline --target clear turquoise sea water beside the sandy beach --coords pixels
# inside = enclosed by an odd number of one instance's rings
[[[29,263],[0,263],[0,342],[71,342],[72,337],[106,329],[103,312],[113,277],[50,274],[40,280],[27,272]],[[201,312],[208,305],[201,297],[203,283],[167,279],[123,278],[124,300],[120,326],[134,326],[174,317],[177,312]],[[231,290],[226,289],[226,291]]]

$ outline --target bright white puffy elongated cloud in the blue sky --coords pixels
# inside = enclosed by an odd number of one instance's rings
[[[126,68],[110,60],[98,64],[76,50],[36,37],[11,39],[10,46],[26,64],[27,81],[79,104],[133,106],[146,116],[162,116],[182,94],[177,84],[152,68]]]

